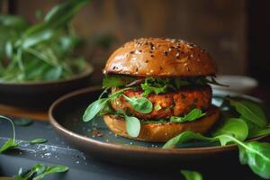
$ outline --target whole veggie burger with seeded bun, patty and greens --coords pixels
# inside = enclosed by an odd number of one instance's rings
[[[116,49],[103,69],[103,94],[85,110],[112,132],[165,142],[184,130],[205,133],[219,119],[211,104],[217,68],[208,52],[184,40],[142,38]],[[108,97],[103,97],[108,93]]]

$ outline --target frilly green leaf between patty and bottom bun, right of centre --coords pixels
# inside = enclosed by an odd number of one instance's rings
[[[206,113],[202,113],[202,110],[200,109],[193,109],[191,112],[188,114],[184,115],[184,117],[176,117],[172,116],[170,117],[170,121],[172,122],[184,122],[184,121],[194,121],[199,118],[202,118],[202,116],[205,116]]]

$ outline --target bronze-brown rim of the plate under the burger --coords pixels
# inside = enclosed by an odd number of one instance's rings
[[[193,154],[209,154],[209,153],[220,153],[223,151],[229,151],[237,148],[236,144],[230,144],[226,146],[213,146],[213,147],[199,147],[199,148],[152,148],[152,147],[141,147],[136,145],[122,145],[122,144],[114,144],[110,142],[103,142],[97,139],[92,139],[90,137],[85,137],[80,135],[72,130],[67,130],[67,128],[63,127],[54,117],[54,112],[57,110],[58,106],[61,103],[65,103],[69,98],[79,96],[80,94],[86,94],[93,91],[101,90],[100,85],[94,85],[91,87],[86,87],[83,89],[76,90],[69,94],[65,94],[59,97],[54,103],[49,107],[49,123],[52,127],[61,132],[65,136],[71,136],[73,139],[79,139],[80,142],[90,143],[92,146],[97,146],[98,148],[111,148],[113,150],[122,150],[122,151],[131,151],[136,153],[149,153],[149,154],[170,154],[170,155],[193,155]],[[248,97],[249,95],[245,95]],[[256,97],[255,97],[256,98]],[[248,139],[247,141],[255,141],[265,139],[267,135],[260,136],[254,139]]]

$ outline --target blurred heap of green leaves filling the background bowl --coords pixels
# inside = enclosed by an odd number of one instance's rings
[[[0,82],[57,80],[83,72],[86,61],[79,49],[84,40],[71,23],[89,2],[68,0],[45,15],[38,10],[33,24],[20,15],[1,14]],[[93,38],[91,46],[106,49],[113,40],[110,34],[101,34]]]

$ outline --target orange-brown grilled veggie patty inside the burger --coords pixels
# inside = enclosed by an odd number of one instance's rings
[[[112,93],[117,90],[112,90]],[[129,97],[143,96],[142,90],[128,90],[124,94]],[[196,88],[185,88],[179,91],[166,94],[148,94],[148,100],[153,103],[153,111],[150,113],[140,113],[134,111],[130,103],[123,96],[112,101],[112,108],[115,111],[129,111],[139,119],[160,120],[171,116],[183,116],[194,108],[207,110],[211,105],[211,87],[205,85]]]

